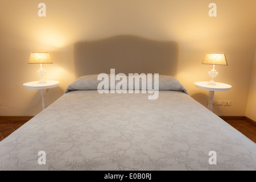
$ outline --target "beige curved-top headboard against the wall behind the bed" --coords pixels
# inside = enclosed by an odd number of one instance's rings
[[[76,76],[110,73],[159,73],[176,76],[178,46],[133,35],[74,44]]]

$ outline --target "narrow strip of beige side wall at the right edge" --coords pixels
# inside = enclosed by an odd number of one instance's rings
[[[245,116],[256,121],[256,47]]]

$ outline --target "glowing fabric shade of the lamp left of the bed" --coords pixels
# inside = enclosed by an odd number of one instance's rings
[[[28,63],[46,64],[52,63],[52,60],[48,52],[31,52]]]

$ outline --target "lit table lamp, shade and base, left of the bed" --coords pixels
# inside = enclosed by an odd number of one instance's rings
[[[46,71],[42,68],[42,64],[52,63],[51,57],[48,52],[31,52],[30,60],[28,60],[28,64],[40,64],[40,68],[37,71],[38,75],[41,76],[41,80],[38,82],[39,84],[46,84],[46,80],[44,80],[43,76],[46,75]]]

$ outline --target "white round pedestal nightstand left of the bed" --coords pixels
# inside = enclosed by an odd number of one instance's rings
[[[43,109],[46,109],[46,104],[45,104],[46,100],[44,98],[46,96],[46,89],[54,88],[58,86],[60,82],[55,80],[47,80],[46,84],[39,84],[38,82],[39,81],[27,82],[23,84],[23,86],[26,89],[40,90],[41,96],[42,96],[42,106],[43,106]]]

